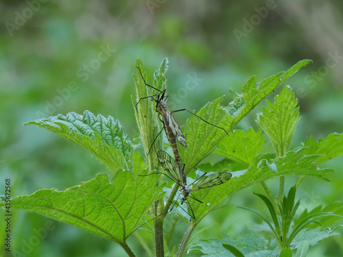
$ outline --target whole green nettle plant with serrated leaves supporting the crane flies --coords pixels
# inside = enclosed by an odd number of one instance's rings
[[[210,123],[225,127],[227,131],[233,130],[233,127],[258,103],[285,82],[289,76],[309,64],[309,62],[311,61],[300,61],[288,71],[272,75],[259,84],[256,83],[255,77],[252,77],[244,86],[241,95],[234,90],[230,90],[233,101],[228,106],[220,106],[220,101],[223,98],[220,97],[207,103],[197,115]],[[165,71],[167,71],[168,65],[167,59],[163,60],[160,69],[154,73],[154,87],[160,89],[165,87]],[[143,71],[139,60],[137,60],[137,67]],[[143,73],[143,76],[146,77],[145,73]],[[139,99],[152,95],[152,92],[150,88],[145,86],[140,75],[134,76],[134,80],[137,86],[137,98],[132,97],[132,103],[136,106]],[[243,256],[241,254],[244,251],[241,251],[237,245],[239,243],[249,245],[249,242],[255,238],[259,238],[257,243],[260,243],[259,247],[255,247],[255,249],[264,250],[263,247],[267,245],[266,240],[255,234],[250,237],[242,236],[235,242],[224,238],[224,241],[200,241],[189,246],[189,241],[198,223],[213,208],[230,195],[233,195],[233,193],[257,182],[261,182],[268,193],[268,201],[261,195],[259,197],[265,201],[270,211],[274,210],[274,212],[281,212],[281,214],[285,212],[287,218],[293,218],[294,213],[291,212],[292,215],[289,215],[289,210],[296,209],[292,204],[295,191],[294,194],[292,193],[292,195],[283,198],[278,206],[277,201],[274,201],[271,197],[263,181],[279,176],[279,199],[282,199],[285,175],[313,175],[326,180],[324,176],[333,171],[332,169],[320,169],[316,162],[318,160],[323,162],[342,154],[342,143],[340,143],[342,142],[342,135],[330,136],[331,142],[332,140],[337,142],[335,147],[331,148],[331,152],[323,150],[327,147],[325,140],[320,140],[317,143],[313,138],[307,141],[305,146],[289,150],[289,143],[298,122],[298,109],[294,109],[296,102],[292,90],[284,88],[280,99],[276,99],[277,104],[274,105],[276,112],[272,111],[273,105],[268,102],[269,109],[263,108],[263,115],[259,117],[259,124],[272,140],[276,150],[276,158],[261,153],[261,149],[266,142],[261,130],[258,132],[252,129],[248,130],[248,132],[235,130],[227,136],[222,130],[209,126],[194,117],[191,117],[185,124],[183,132],[187,139],[187,147],[180,147],[179,150],[182,163],[185,163],[186,175],[191,175],[190,172],[193,167],[210,154],[218,144],[214,154],[224,157],[224,161],[218,162],[214,166],[218,169],[215,170],[224,170],[226,160],[233,161],[235,163],[234,167],[237,169],[236,172],[233,172],[234,178],[225,184],[196,192],[196,197],[204,203],[211,203],[211,205],[192,201],[191,204],[196,219],[189,221],[189,227],[182,238],[177,254],[175,248],[169,250],[165,244],[163,221],[168,218],[168,215],[165,214],[171,207],[171,201],[178,191],[178,186],[174,186],[169,190],[168,194],[165,194],[163,187],[171,186],[171,182],[165,180],[162,175],[147,175],[154,173],[154,171],[162,172],[161,165],[158,163],[154,152],[147,154],[154,142],[154,136],[156,135],[154,131],[159,131],[162,128],[161,121],[158,121],[155,112],[154,103],[148,99],[141,101],[137,109],[135,108],[137,125],[147,158],[146,163],[143,162],[141,154],[134,151],[136,146],[132,145],[119,121],[115,121],[112,117],[108,117],[108,119],[102,115],[95,117],[91,112],[85,111],[83,115],[71,112],[66,117],[58,115],[49,119],[25,123],[25,125],[35,124],[45,127],[47,130],[51,130],[88,149],[100,162],[106,164],[114,175],[109,178],[107,173],[99,173],[95,179],[82,182],[82,184],[68,188],[65,191],[43,189],[36,191],[32,195],[15,197],[11,201],[12,208],[37,212],[91,231],[118,243],[129,256],[135,256],[135,254],[126,243],[127,237],[137,228],[146,213],[149,213],[151,218],[156,218],[153,219],[156,256],[182,256],[187,247],[190,247],[189,249],[193,251],[207,253],[206,251],[214,251],[217,243],[222,245],[223,249],[228,251],[228,254],[231,254],[228,256],[234,256],[233,254]],[[154,144],[156,149],[163,149],[161,137]],[[209,169],[206,171],[209,171]],[[168,181],[168,183],[163,181]],[[166,198],[165,201],[163,197]],[[288,202],[290,204],[287,204]],[[4,206],[4,204],[2,203],[1,206]],[[174,210],[177,211],[178,208],[174,208]],[[279,220],[274,212],[272,219],[276,230]],[[181,217],[187,219],[182,215]],[[289,224],[282,223],[279,227],[283,228],[282,231],[286,231],[289,229]],[[276,234],[276,237],[281,238],[280,233],[276,232],[274,234]],[[284,241],[285,237],[287,236],[283,236]],[[289,236],[289,238],[294,238],[294,236]],[[292,243],[292,240],[289,240]],[[289,245],[289,243],[281,242],[281,244],[278,244],[276,241],[272,241],[270,249],[280,253],[283,248],[288,249]],[[301,246],[303,247],[303,245]],[[300,244],[298,247],[300,247]]]

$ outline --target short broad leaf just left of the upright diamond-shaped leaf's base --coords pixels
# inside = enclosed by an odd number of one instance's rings
[[[266,142],[262,130],[257,133],[252,127],[249,128],[247,133],[243,130],[235,130],[220,141],[214,154],[240,162],[248,167]]]

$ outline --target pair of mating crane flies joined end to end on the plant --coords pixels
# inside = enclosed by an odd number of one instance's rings
[[[143,79],[145,86],[149,86],[150,88],[153,88],[154,90],[158,91],[158,93],[156,93],[155,95],[150,95],[150,96],[143,97],[143,98],[139,99],[138,103],[136,104],[136,108],[142,99],[151,98],[152,101],[156,102],[156,112],[158,113],[158,117],[159,117],[160,121],[163,123],[163,128],[165,130],[165,134],[167,135],[169,144],[170,144],[171,149],[173,150],[174,156],[175,156],[175,160],[174,160],[165,151],[159,150],[156,153],[158,160],[161,163],[162,167],[170,175],[170,177],[168,176],[168,178],[170,178],[171,180],[174,180],[174,182],[176,182],[178,184],[178,186],[180,186],[180,194],[178,195],[174,205],[171,207],[171,209],[168,212],[170,212],[172,210],[172,208],[174,208],[176,202],[178,201],[178,198],[182,194],[183,197],[180,201],[180,205],[182,205],[184,202],[186,202],[188,208],[191,210],[191,213],[189,213],[189,212],[187,212],[187,213],[193,219],[196,219],[187,197],[189,196],[192,199],[196,199],[196,201],[199,201],[200,203],[202,203],[202,201],[200,201],[199,199],[197,199],[196,197],[194,197],[191,194],[192,191],[196,191],[198,189],[209,188],[211,186],[217,186],[217,185],[223,184],[223,183],[227,182],[228,180],[230,180],[232,174],[229,172],[221,172],[221,173],[214,173],[214,174],[205,176],[206,173],[204,173],[200,178],[198,178],[198,180],[194,181],[190,185],[187,185],[187,178],[186,178],[185,171],[184,171],[185,165],[181,163],[180,156],[178,155],[178,145],[176,143],[176,140],[178,140],[180,142],[180,144],[184,147],[187,147],[187,142],[186,142],[185,136],[182,133],[182,130],[180,129],[180,126],[178,125],[178,123],[176,123],[174,117],[171,114],[172,112],[169,110],[167,103],[165,103],[165,101],[167,100],[169,95],[166,95],[166,89],[165,88],[163,90],[158,90],[157,88],[154,88],[154,86],[150,86],[149,84],[147,84],[145,82],[145,79],[143,77],[141,69],[139,69],[139,67],[136,67],[136,68],[139,70],[139,73],[141,74],[141,77]],[[187,112],[190,112],[191,114],[193,114],[193,112],[191,112],[187,109],[176,110],[173,112],[180,112],[183,110],[186,110]],[[202,121],[208,123],[209,125],[213,125],[212,123],[205,121],[204,119],[202,119],[198,115],[196,115],[196,114],[193,114],[193,115],[198,117]],[[218,127],[217,125],[213,125],[213,126],[219,128],[221,130],[224,130],[224,128]],[[161,130],[161,132],[162,132],[162,130]],[[159,136],[159,134],[161,134],[161,132],[158,133],[157,137]],[[224,132],[228,135],[226,130],[224,130]],[[156,140],[156,138],[154,138],[154,141]],[[154,145],[154,142],[152,143],[152,146],[153,145]],[[152,146],[150,147],[148,154],[150,153]],[[198,183],[195,186],[193,186],[193,184],[195,182],[198,182]],[[193,188],[191,188],[190,186],[193,186]]]

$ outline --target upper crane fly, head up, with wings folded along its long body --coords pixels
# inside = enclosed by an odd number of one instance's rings
[[[180,144],[184,147],[187,147],[187,142],[186,142],[185,136],[182,133],[180,126],[178,125],[178,123],[174,119],[172,113],[186,110],[187,112],[193,114],[194,116],[198,117],[202,121],[204,121],[210,125],[213,125],[213,124],[209,123],[208,121],[205,121],[204,119],[202,119],[201,117],[199,117],[198,115],[194,114],[193,112],[191,112],[187,109],[174,110],[171,112],[167,106],[167,103],[165,103],[165,101],[169,97],[169,95],[166,94],[166,88],[163,90],[159,90],[157,88],[154,88],[154,86],[150,86],[149,84],[147,84],[145,82],[145,79],[143,77],[141,69],[139,69],[139,67],[137,67],[137,66],[136,66],[136,68],[139,70],[139,73],[141,74],[141,77],[143,79],[145,86],[149,86],[150,88],[153,88],[154,90],[158,91],[158,93],[156,93],[155,95],[150,95],[150,96],[143,97],[143,98],[139,99],[138,103],[136,104],[136,109],[137,109],[137,105],[139,104],[139,102],[142,99],[151,98],[152,101],[156,102],[155,110],[158,113],[158,117],[159,117],[160,121],[163,123],[163,128],[165,130],[165,134],[167,135],[169,145],[171,146],[171,149],[173,150],[173,153],[175,156],[175,161],[181,169],[182,164],[180,162],[180,156],[178,155],[178,145],[176,143],[176,140],[178,140],[180,142]],[[224,130],[224,128],[218,127],[217,125],[213,125],[213,126],[220,128],[221,130]],[[162,132],[162,130],[161,130],[161,132]],[[158,133],[158,135],[161,134],[161,132]],[[224,130],[224,132],[228,135],[228,132],[226,132],[226,130]],[[155,140],[156,140],[156,138],[155,138]],[[152,143],[152,145],[154,145],[154,142]],[[152,148],[152,146],[150,147],[150,150],[151,150],[151,148]],[[149,153],[150,153],[150,150],[149,150]],[[183,171],[183,169],[182,169],[182,171]],[[184,179],[182,182],[185,183],[186,182],[185,181],[186,176],[183,175],[182,179]]]

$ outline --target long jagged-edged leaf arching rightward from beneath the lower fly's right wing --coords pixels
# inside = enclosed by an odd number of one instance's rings
[[[288,151],[285,156],[276,158],[274,162],[268,163],[268,160],[262,159],[263,154],[259,154],[250,164],[250,167],[244,171],[231,172],[233,178],[228,182],[213,186],[211,188],[204,188],[202,190],[194,191],[192,194],[204,202],[191,201],[191,206],[196,215],[196,220],[193,224],[197,224],[201,219],[210,212],[217,204],[229,197],[233,193],[246,188],[252,184],[274,178],[281,175],[313,175],[327,180],[324,176],[333,169],[320,169],[316,165],[316,160],[320,157],[318,155],[304,156],[306,147],[299,147],[295,151]],[[209,206],[206,203],[210,203]]]

